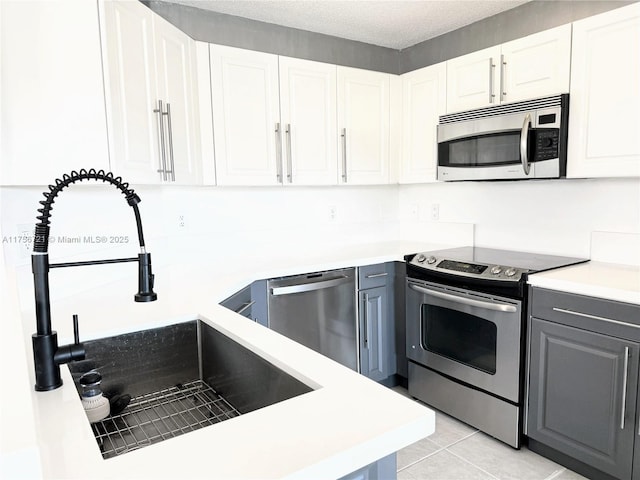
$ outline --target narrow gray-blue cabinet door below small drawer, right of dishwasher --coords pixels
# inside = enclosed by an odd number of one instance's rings
[[[388,302],[386,286],[360,291],[360,373],[376,381],[389,376],[391,363]]]

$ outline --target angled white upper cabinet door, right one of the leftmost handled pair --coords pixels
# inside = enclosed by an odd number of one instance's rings
[[[201,182],[195,43],[157,15],[153,17],[158,98],[165,105],[167,180]]]

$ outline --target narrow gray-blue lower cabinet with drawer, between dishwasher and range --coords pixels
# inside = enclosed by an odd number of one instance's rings
[[[381,382],[396,373],[394,264],[358,269],[360,373]]]

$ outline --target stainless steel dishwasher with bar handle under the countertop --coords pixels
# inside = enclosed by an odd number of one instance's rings
[[[267,282],[269,328],[358,371],[355,268]]]

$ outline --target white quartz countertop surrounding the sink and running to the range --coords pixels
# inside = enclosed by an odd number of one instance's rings
[[[314,391],[103,460],[70,373],[63,366],[61,388],[30,393],[43,476],[331,479],[430,435],[435,429],[430,409],[217,303],[260,278],[401,261],[405,254],[438,248],[443,245],[392,242],[304,258],[273,258],[260,262],[259,268],[250,261],[233,268],[154,268],[156,302],[135,304],[109,297],[108,302],[96,303],[101,295],[111,295],[109,288],[56,301],[52,304],[56,318],[78,310],[92,312],[88,337],[93,338],[199,318]],[[113,290],[124,289],[129,299],[129,283],[126,288],[114,285]],[[132,317],[136,319],[133,325]],[[100,329],[98,325],[105,326]],[[33,367],[29,368],[32,372]]]

